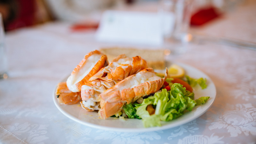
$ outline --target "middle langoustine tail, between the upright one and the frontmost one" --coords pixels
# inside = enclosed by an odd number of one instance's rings
[[[82,86],[81,97],[83,101],[80,102],[82,108],[87,111],[99,110],[99,95],[102,92],[144,68],[147,68],[147,63],[140,56],[129,58],[124,54],[119,55],[107,67],[101,68],[99,72],[89,79],[89,82]]]

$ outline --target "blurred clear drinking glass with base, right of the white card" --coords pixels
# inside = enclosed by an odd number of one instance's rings
[[[186,51],[193,0],[162,0],[159,7],[160,21],[164,34],[164,47],[170,54]]]

